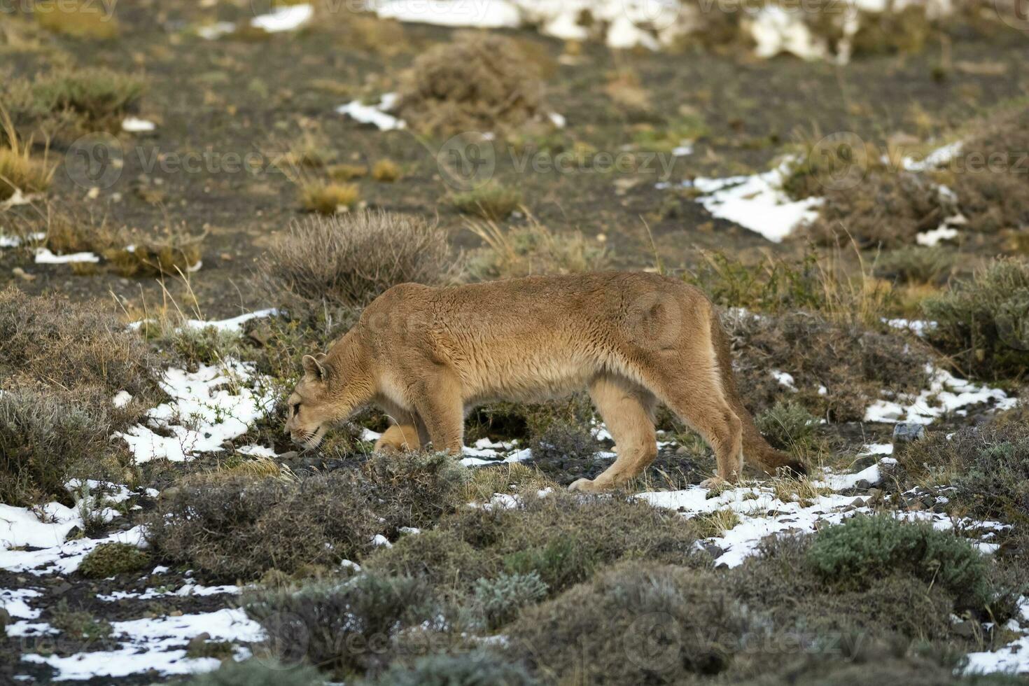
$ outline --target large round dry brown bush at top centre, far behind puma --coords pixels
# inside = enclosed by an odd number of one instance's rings
[[[544,107],[538,67],[516,41],[461,31],[415,60],[402,77],[396,113],[427,134],[504,135],[542,120]]]

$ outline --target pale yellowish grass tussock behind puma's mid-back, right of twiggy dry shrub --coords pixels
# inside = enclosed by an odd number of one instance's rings
[[[610,264],[602,244],[578,231],[556,233],[532,218],[525,226],[470,221],[468,228],[484,244],[468,260],[468,272],[476,280],[595,272]]]

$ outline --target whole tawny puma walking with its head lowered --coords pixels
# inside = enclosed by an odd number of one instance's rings
[[[743,459],[766,471],[803,466],[761,437],[740,401],[729,344],[698,289],[652,274],[529,277],[454,287],[403,284],[376,298],[328,354],[307,356],[287,429],[315,446],[374,403],[391,426],[377,450],[460,453],[464,418],[495,401],[538,402],[587,389],[617,459],[572,489],[601,491],[658,455],[664,403],[713,448],[718,480]]]

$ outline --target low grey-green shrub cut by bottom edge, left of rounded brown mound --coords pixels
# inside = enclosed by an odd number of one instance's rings
[[[395,664],[368,686],[535,686],[520,664],[475,651],[463,655],[429,655],[414,666]]]

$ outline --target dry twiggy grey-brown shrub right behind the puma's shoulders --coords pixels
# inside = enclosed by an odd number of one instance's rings
[[[359,308],[397,284],[437,285],[455,273],[447,234],[422,219],[355,212],[294,222],[261,258],[258,287],[303,312]]]

